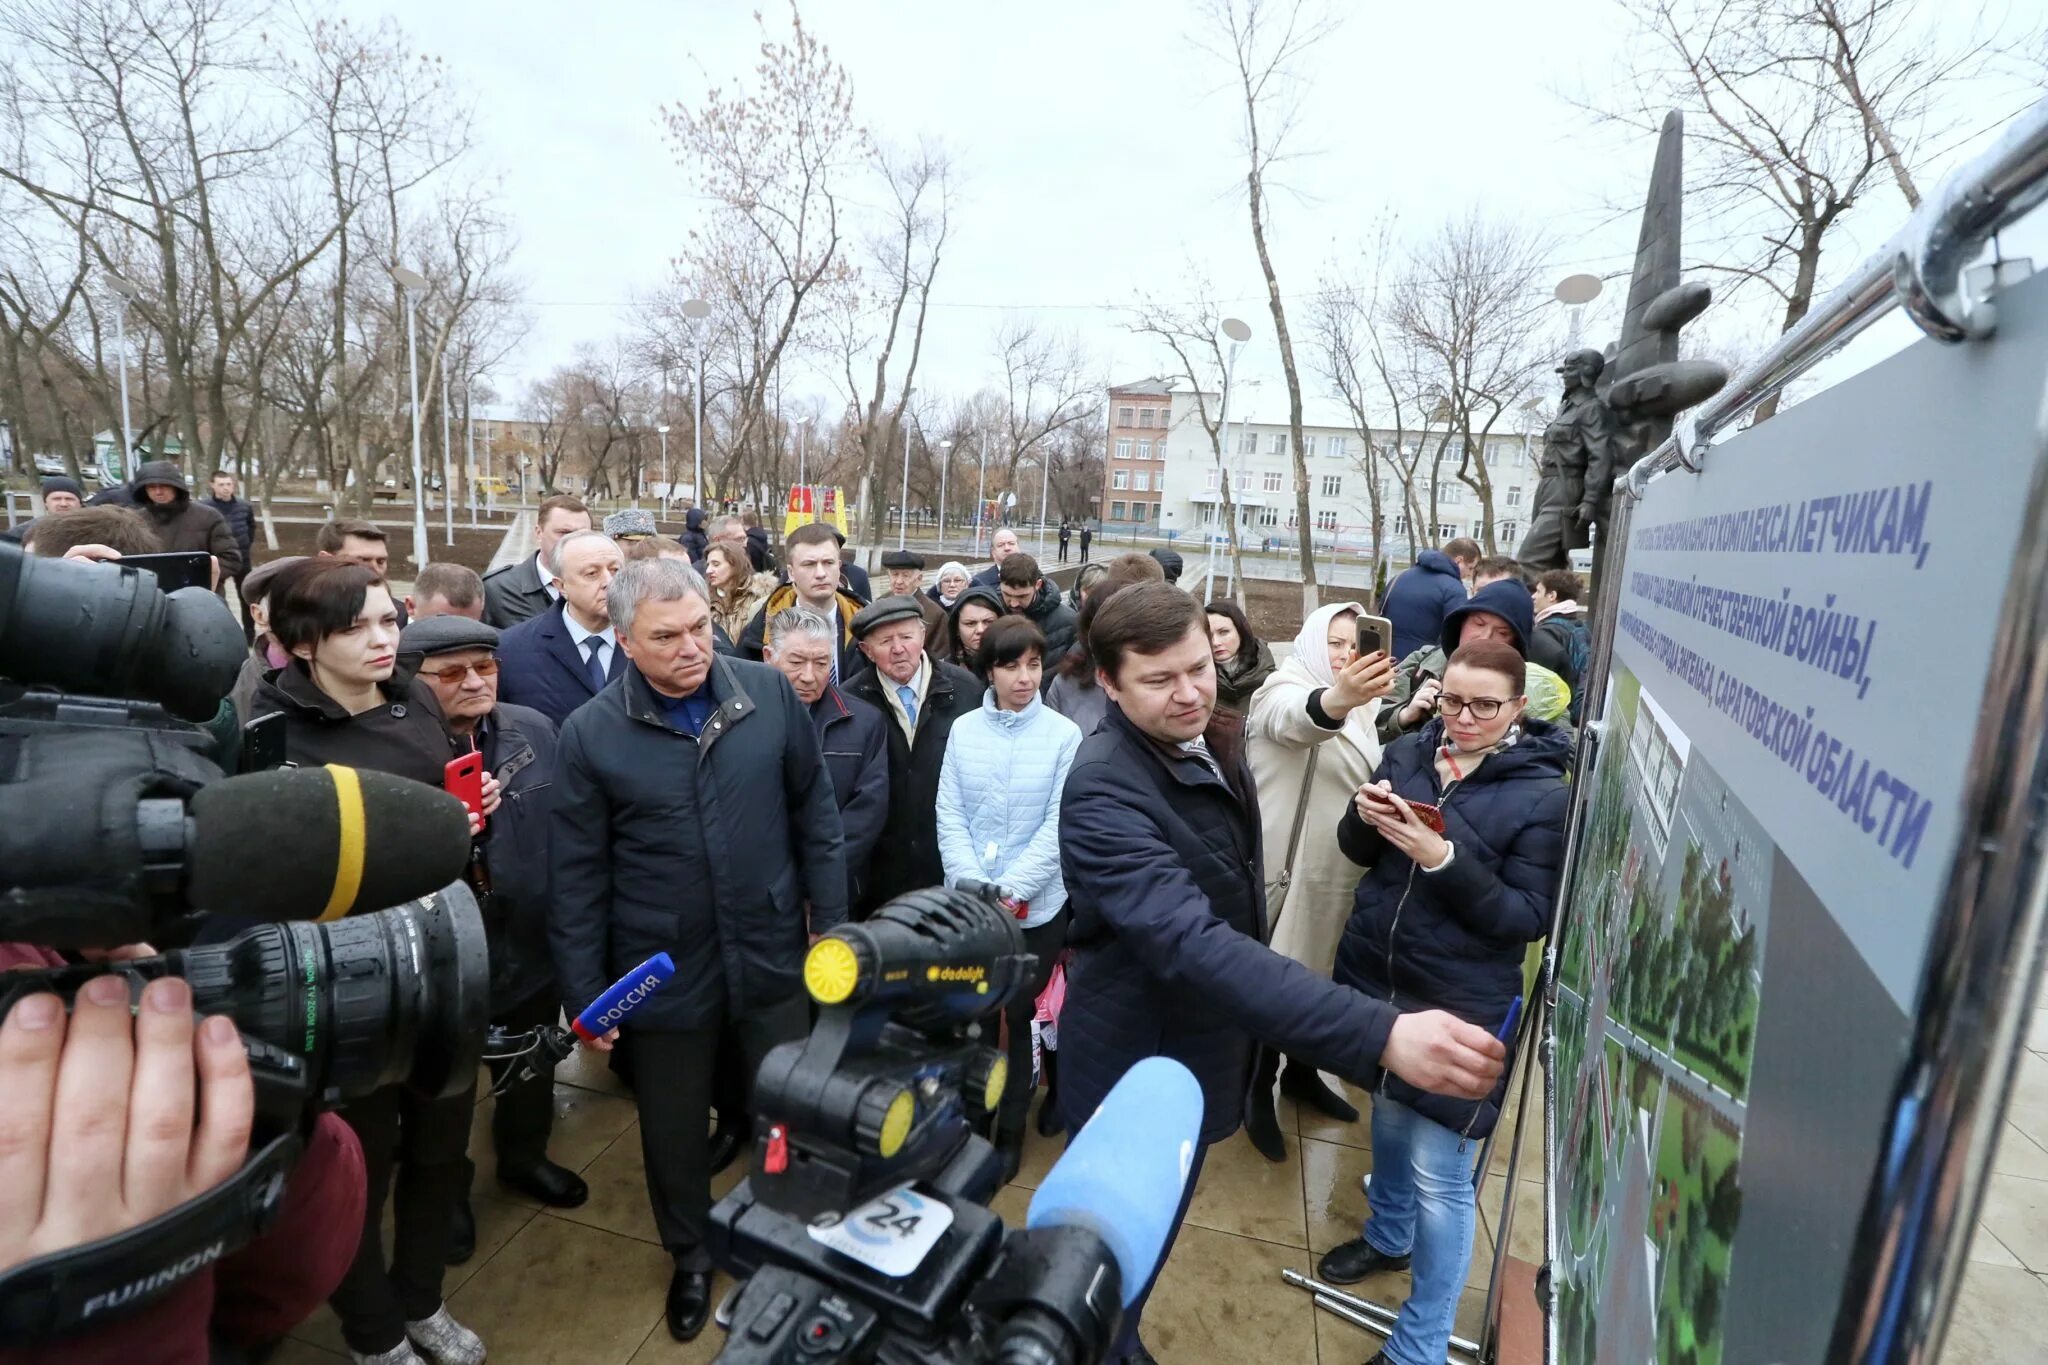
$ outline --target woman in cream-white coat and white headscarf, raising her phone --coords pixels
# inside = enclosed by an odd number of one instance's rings
[[[1294,653],[1251,694],[1245,722],[1266,835],[1266,915],[1272,948],[1329,974],[1352,913],[1360,870],[1337,847],[1337,821],[1380,763],[1374,718],[1393,692],[1395,661],[1358,653],[1356,602],[1309,614]],[[1354,1109],[1307,1062],[1264,1052],[1245,1111],[1245,1134],[1268,1160],[1286,1160],[1274,1113],[1280,1091],[1333,1119]]]

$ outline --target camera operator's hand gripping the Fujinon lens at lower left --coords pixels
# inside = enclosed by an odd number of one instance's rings
[[[195,1083],[197,1072],[197,1083]],[[141,1009],[98,976],[70,1019],[55,995],[0,1023],[0,1269],[127,1232],[233,1175],[256,1089],[227,1017],[195,1029],[193,990],[154,980]]]

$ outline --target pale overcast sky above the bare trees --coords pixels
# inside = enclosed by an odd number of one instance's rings
[[[666,145],[659,106],[750,76],[760,43],[750,6],[342,8],[360,20],[393,14],[475,94],[477,164],[502,176],[532,319],[502,387],[625,329],[627,299],[668,276],[707,211]],[[1339,8],[1356,12],[1303,63],[1296,160],[1272,196],[1290,295],[1313,289],[1327,262],[1356,260],[1384,215],[1421,233],[1475,205],[1546,229],[1556,278],[1628,266],[1634,215],[1614,219],[1608,205],[1640,199],[1655,139],[1599,129],[1573,104],[1599,98],[1628,59],[1612,0]],[[786,8],[768,4],[766,18],[786,31]],[[993,332],[1012,315],[1073,332],[1104,379],[1157,372],[1165,358],[1128,336],[1116,309],[1139,291],[1174,297],[1192,256],[1253,327],[1241,375],[1270,379],[1255,405],[1284,401],[1245,219],[1239,113],[1196,45],[1196,6],[813,0],[807,23],[848,68],[868,127],[891,141],[938,137],[963,172],[922,389],[965,395],[987,383]],[[1968,98],[1972,127],[1997,119],[2001,96]],[[1833,272],[1903,217],[1880,190],[1831,248]],[[1712,227],[1688,223],[1690,246]],[[1622,293],[1612,284],[1595,309]],[[1614,317],[1618,307],[1595,313],[1587,340],[1606,342]],[[805,387],[831,389],[825,375]]]

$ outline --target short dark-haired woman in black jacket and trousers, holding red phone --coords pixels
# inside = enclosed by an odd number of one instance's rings
[[[256,714],[283,712],[285,757],[342,763],[440,786],[449,739],[432,694],[397,669],[397,604],[362,565],[309,559],[270,587],[270,632],[291,663],[264,677]],[[489,784],[485,808],[494,804]],[[471,817],[475,827],[475,817]],[[399,1085],[338,1111],[362,1140],[362,1242],[330,1304],[356,1359],[483,1361],[483,1340],[440,1300],[457,1203],[467,1189],[469,1095],[422,1099]],[[397,1173],[391,1263],[383,1203]]]

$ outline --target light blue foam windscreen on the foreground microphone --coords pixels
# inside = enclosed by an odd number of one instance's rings
[[[1149,1056],[1110,1087],[1032,1195],[1026,1228],[1087,1228],[1116,1257],[1124,1306],[1159,1265],[1202,1134],[1202,1087]]]

